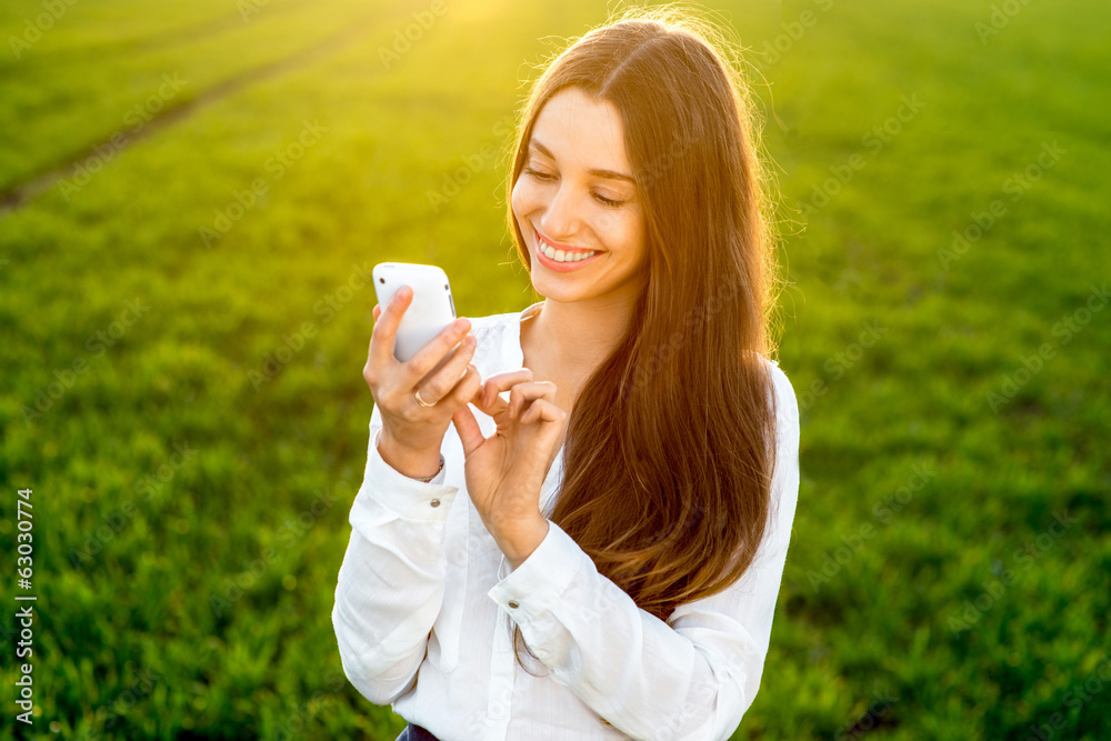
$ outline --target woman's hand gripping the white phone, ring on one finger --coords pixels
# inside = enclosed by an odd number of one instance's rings
[[[382,460],[403,475],[422,478],[434,472],[440,462],[440,445],[452,414],[467,408],[482,381],[470,364],[476,339],[467,334],[467,319],[446,328],[407,362],[393,356],[398,326],[411,300],[412,289],[402,287],[384,311],[374,307],[374,330],[362,377],[382,414],[378,444]],[[431,373],[457,343],[459,349],[451,359]],[[418,390],[431,407],[417,402]]]

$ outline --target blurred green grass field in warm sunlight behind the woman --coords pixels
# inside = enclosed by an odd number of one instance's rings
[[[1111,738],[1111,6],[703,7],[767,118],[802,410],[733,738]],[[539,300],[508,131],[608,10],[0,6],[3,738],[21,488],[24,738],[400,732],[330,622],[372,408],[350,287],[434,262],[460,316]]]

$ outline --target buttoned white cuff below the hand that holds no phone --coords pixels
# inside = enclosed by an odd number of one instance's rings
[[[579,543],[549,520],[548,534],[521,565],[510,571],[509,560],[502,555],[500,581],[487,594],[518,624],[529,622],[556,604],[584,561],[590,557]]]

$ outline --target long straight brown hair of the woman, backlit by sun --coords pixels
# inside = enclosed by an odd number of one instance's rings
[[[575,401],[550,519],[664,621],[734,582],[770,520],[775,409],[761,356],[775,349],[778,240],[758,113],[731,51],[674,4],[589,31],[533,84],[508,180],[511,203],[533,123],[558,91],[577,86],[620,110],[645,288]],[[509,222],[531,271],[512,208]],[[516,625],[513,645],[528,650]]]

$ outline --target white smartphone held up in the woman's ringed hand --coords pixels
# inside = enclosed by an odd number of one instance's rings
[[[451,284],[448,282],[448,273],[441,268],[410,262],[380,262],[374,266],[371,274],[378,292],[378,306],[383,310],[402,286],[408,286],[413,291],[412,301],[401,316],[393,344],[393,357],[401,362],[417,354],[418,350],[456,321]],[[457,344],[456,348],[458,347]],[[429,374],[439,370],[453,354],[454,349]]]

